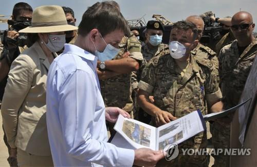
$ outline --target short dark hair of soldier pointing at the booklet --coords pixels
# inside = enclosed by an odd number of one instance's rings
[[[184,31],[192,30],[194,40],[198,36],[198,29],[197,29],[196,25],[193,24],[192,22],[188,22],[185,20],[179,21],[173,25],[172,29],[175,29],[175,28],[178,30],[184,30]]]

